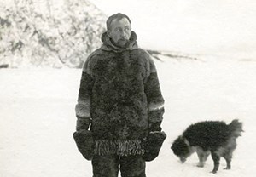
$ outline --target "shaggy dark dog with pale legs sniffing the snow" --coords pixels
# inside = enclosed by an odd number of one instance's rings
[[[174,140],[171,149],[182,163],[196,152],[199,158],[198,167],[203,167],[207,157],[211,154],[214,162],[212,173],[215,174],[218,171],[220,157],[226,160],[225,169],[231,168],[236,138],[241,136],[242,131],[242,123],[238,120],[233,120],[230,124],[218,121],[195,123]]]

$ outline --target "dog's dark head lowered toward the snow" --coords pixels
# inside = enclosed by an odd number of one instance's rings
[[[174,140],[171,149],[173,153],[179,157],[182,163],[184,163],[187,160],[187,157],[191,155],[189,142],[183,138],[183,136],[179,136],[176,140]]]

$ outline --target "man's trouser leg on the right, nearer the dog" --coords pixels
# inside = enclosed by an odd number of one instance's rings
[[[146,163],[141,156],[120,157],[122,177],[146,177]]]

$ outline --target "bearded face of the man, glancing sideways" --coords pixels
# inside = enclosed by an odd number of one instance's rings
[[[119,47],[126,47],[131,37],[131,24],[129,20],[123,18],[121,20],[113,20],[108,30],[108,37]]]

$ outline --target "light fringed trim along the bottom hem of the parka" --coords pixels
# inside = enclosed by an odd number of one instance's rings
[[[96,155],[117,154],[119,156],[143,155],[145,152],[141,140],[96,140]]]

